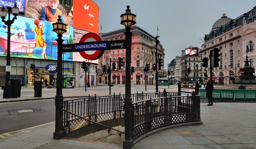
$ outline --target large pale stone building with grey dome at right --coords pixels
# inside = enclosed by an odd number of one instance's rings
[[[246,50],[246,45],[251,44],[251,47],[253,47],[256,42],[256,38],[254,39],[255,41],[252,40],[250,43],[242,40],[242,36],[245,35],[243,29],[244,26],[256,20],[255,11],[256,7],[236,19],[228,18],[226,14],[223,13],[222,17],[212,25],[210,33],[204,35],[204,43],[201,45],[202,49],[198,53],[201,60],[205,57],[208,58],[210,51],[213,51],[214,48],[220,50],[220,56],[218,57],[220,61],[216,62],[218,67],[212,69],[212,80],[214,84],[232,84],[233,80],[238,79],[238,76],[240,75],[239,68],[244,65],[243,61],[245,60],[245,57],[242,55]],[[255,32],[256,28],[254,37]],[[209,68],[210,64],[212,64],[213,67],[213,58],[214,56],[212,56],[212,62],[210,62],[210,59],[208,58],[207,68],[202,67],[201,62],[200,75],[204,80],[210,78]],[[251,61],[252,66],[254,64],[254,59]],[[207,76],[203,76],[205,72],[207,73]]]

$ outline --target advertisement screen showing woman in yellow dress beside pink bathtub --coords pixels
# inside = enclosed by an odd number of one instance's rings
[[[11,18],[14,16],[11,15]],[[7,26],[0,27],[0,56],[7,52]],[[11,26],[11,57],[57,60],[57,33],[53,24],[17,16]],[[72,44],[73,27],[67,26],[63,44]],[[65,61],[73,61],[73,54],[64,54]]]

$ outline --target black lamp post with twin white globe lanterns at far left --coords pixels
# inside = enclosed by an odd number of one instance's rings
[[[14,20],[17,19],[17,16],[19,14],[19,8],[17,7],[17,4],[15,2],[14,7],[6,7],[8,11],[4,10],[4,6],[2,7],[2,10],[0,11],[0,17],[2,18],[2,22],[7,25],[7,57],[6,57],[6,68],[11,69],[11,25],[14,23]],[[11,20],[11,10],[14,15],[14,17]],[[8,20],[5,21],[5,17],[7,16],[8,12]],[[11,75],[10,71],[6,71],[6,79],[5,79],[5,87],[4,87],[4,94],[3,98],[12,98],[12,86],[11,86]]]

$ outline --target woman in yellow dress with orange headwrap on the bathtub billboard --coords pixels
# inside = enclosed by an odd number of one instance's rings
[[[45,53],[45,51],[46,51],[46,42],[45,42],[45,40],[44,40],[44,38],[43,38],[43,34],[44,34],[44,32],[43,32],[43,28],[44,28],[44,23],[42,23],[40,20],[35,20],[34,21],[34,24],[36,25],[36,27],[35,27],[35,33],[37,34],[37,36],[36,36],[36,42],[37,42],[37,44],[36,44],[36,46],[37,47],[42,47],[43,48],[43,52],[42,52],[42,58],[43,59],[48,59],[47,57],[46,57],[46,53]]]

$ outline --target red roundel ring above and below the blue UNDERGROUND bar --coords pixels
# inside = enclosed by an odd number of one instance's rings
[[[89,32],[82,36],[79,43],[93,42],[93,41],[101,41],[101,38],[98,34]],[[104,50],[80,51],[79,53],[83,58],[87,60],[97,60],[102,56],[102,54],[104,53]]]

